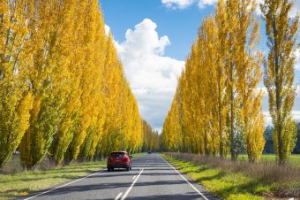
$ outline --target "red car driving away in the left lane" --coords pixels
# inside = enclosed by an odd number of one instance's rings
[[[107,167],[108,171],[115,168],[125,168],[129,171],[131,170],[131,156],[126,151],[113,151],[110,153]]]

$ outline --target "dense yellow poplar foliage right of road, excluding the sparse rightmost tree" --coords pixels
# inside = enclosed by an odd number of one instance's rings
[[[265,145],[261,109],[262,54],[253,0],[220,0],[203,19],[178,81],[161,142],[180,150],[236,160],[245,149],[259,160]]]

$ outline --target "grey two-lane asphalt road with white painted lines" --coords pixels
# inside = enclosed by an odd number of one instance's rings
[[[158,154],[132,160],[132,170],[107,170],[23,199],[218,199]]]

